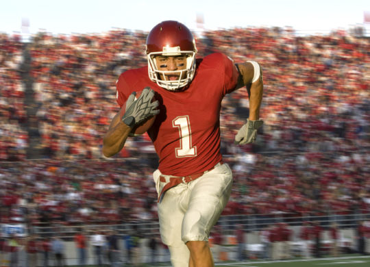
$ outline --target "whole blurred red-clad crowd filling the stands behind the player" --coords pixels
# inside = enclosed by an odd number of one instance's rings
[[[0,35],[1,222],[156,219],[147,135],[127,141],[113,160],[101,155],[119,108],[115,81],[147,64],[146,36],[40,32],[23,44]],[[235,180],[223,214],[370,213],[369,38],[288,28],[195,36],[199,57],[221,51],[236,63],[256,60],[264,72],[256,143],[234,145],[247,90],[223,101],[221,149]],[[30,160],[36,151],[42,160]]]

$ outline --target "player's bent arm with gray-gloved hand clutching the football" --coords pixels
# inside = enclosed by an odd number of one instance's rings
[[[112,157],[123,149],[127,137],[135,125],[160,112],[157,110],[158,101],[151,102],[154,91],[150,88],[145,88],[137,100],[135,97],[136,92],[133,92],[127,99],[124,114],[123,110],[120,110],[110,123],[108,132],[103,138],[103,155],[106,157]],[[121,117],[120,114],[123,116]]]

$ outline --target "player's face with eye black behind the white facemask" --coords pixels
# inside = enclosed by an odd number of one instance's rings
[[[180,77],[180,73],[177,71],[186,69],[186,58],[186,55],[156,56],[158,71],[169,71],[169,73],[160,74],[160,79],[167,81],[176,81],[179,78],[184,79],[186,77],[186,71],[182,73],[182,77]],[[171,71],[174,72],[171,73]]]

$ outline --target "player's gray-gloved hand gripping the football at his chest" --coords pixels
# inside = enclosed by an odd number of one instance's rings
[[[157,109],[158,100],[153,103],[151,100],[154,97],[153,89],[146,87],[141,92],[140,97],[135,100],[136,92],[132,92],[126,102],[126,111],[122,116],[122,121],[130,127],[140,124],[143,120],[157,115],[160,110]]]

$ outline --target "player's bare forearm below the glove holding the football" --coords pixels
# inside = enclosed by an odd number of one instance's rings
[[[110,128],[103,137],[103,155],[112,157],[116,153],[119,153],[125,146],[131,129],[131,127],[125,125],[122,121],[119,121],[114,127]]]

